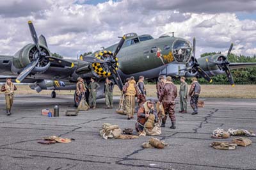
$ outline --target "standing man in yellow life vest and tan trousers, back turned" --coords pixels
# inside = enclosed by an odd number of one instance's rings
[[[134,77],[131,77],[130,81],[127,82],[123,93],[125,94],[125,114],[127,115],[127,120],[130,120],[133,118],[135,96],[137,95],[136,81],[134,81]]]

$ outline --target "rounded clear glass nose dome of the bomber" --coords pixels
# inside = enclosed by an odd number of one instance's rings
[[[175,40],[172,47],[172,53],[176,61],[188,62],[191,54],[191,45],[185,40]]]

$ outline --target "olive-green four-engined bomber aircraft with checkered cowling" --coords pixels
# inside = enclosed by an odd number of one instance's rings
[[[103,98],[103,83],[106,77],[113,79],[122,89],[127,77],[138,79],[144,75],[148,81],[157,81],[159,75],[172,77],[204,77],[211,82],[214,75],[226,73],[234,86],[230,70],[256,66],[256,63],[230,63],[228,56],[215,54],[195,58],[195,38],[193,44],[183,38],[162,35],[154,39],[150,35],[138,36],[129,33],[122,36],[119,43],[104,50],[98,50],[79,59],[60,59],[51,56],[44,35],[39,38],[31,21],[28,22],[34,43],[22,47],[14,56],[0,56],[0,81],[11,77],[16,82],[28,82],[38,93],[43,89],[76,89],[77,77],[89,80],[95,77],[101,84],[97,98]],[[76,98],[76,93],[75,93]],[[76,100],[75,100],[76,102]]]

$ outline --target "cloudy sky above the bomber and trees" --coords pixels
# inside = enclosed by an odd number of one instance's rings
[[[174,31],[196,54],[256,54],[255,0],[8,0],[0,1],[0,54],[13,55],[31,43],[28,20],[51,52],[67,58],[118,42],[125,33],[158,38]]]

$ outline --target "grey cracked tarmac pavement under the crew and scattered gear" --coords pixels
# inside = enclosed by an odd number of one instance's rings
[[[201,98],[205,107],[199,114],[180,114],[175,111],[177,128],[170,129],[170,119],[158,139],[170,144],[163,150],[143,149],[141,144],[150,138],[104,140],[99,135],[102,123],[121,128],[134,128],[136,119],[127,120],[115,109],[98,109],[65,116],[74,109],[72,96],[16,95],[12,116],[5,115],[4,96],[0,95],[0,169],[256,169],[256,137],[253,144],[232,151],[212,149],[212,130],[221,127],[244,128],[256,132],[256,99]],[[118,97],[115,97],[116,108]],[[179,98],[177,98],[177,102]],[[41,109],[60,106],[60,117],[41,116]],[[192,112],[190,107],[188,112]],[[135,134],[135,130],[134,130]],[[74,138],[68,144],[38,144],[42,137],[58,135]]]

